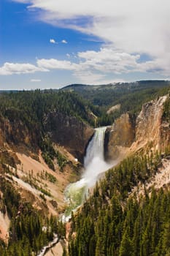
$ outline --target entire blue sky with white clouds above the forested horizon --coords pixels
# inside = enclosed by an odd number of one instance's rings
[[[169,1],[1,0],[0,89],[169,79]]]

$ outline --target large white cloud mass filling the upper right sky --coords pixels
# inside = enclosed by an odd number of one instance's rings
[[[105,42],[101,50],[78,53],[76,57],[80,61],[77,66],[68,61],[54,61],[50,69],[60,67],[74,70],[74,75],[78,76],[88,70],[169,75],[170,1],[86,0],[81,4],[79,0],[15,1],[27,2],[28,10],[34,10],[39,20],[53,26],[75,29]],[[55,43],[54,39],[50,40]],[[66,40],[61,42],[66,43]],[[140,62],[142,54],[150,56],[150,61]],[[45,62],[50,65],[53,61]]]

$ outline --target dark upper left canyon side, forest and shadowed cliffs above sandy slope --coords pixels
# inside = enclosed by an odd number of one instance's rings
[[[69,132],[79,132],[80,152],[85,150],[89,138],[93,134],[89,122],[91,110],[85,102],[74,93],[53,91],[25,91],[15,94],[1,94],[0,106],[0,131],[1,144],[9,143],[10,146],[24,146],[29,151],[42,150],[47,147],[45,138],[50,138],[51,132],[55,143],[63,143],[63,132],[69,126]],[[66,121],[65,121],[66,120]],[[82,138],[83,131],[88,129],[89,135]],[[67,131],[66,131],[67,132]],[[85,133],[85,132],[84,132]],[[68,137],[68,136],[67,136]],[[62,143],[64,145],[62,145]],[[73,143],[73,145],[72,145]],[[83,145],[83,146],[82,146]],[[74,148],[74,137],[69,139],[69,148]],[[77,144],[77,151],[79,145]],[[83,152],[82,152],[83,153]],[[76,157],[76,156],[75,156]]]

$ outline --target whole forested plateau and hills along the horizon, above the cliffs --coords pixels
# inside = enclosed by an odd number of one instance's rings
[[[20,117],[28,126],[40,128],[45,114],[53,110],[99,127],[112,124],[122,113],[136,116],[144,102],[167,94],[169,88],[169,81],[149,80],[103,86],[71,85],[60,90],[1,92],[0,111],[3,116]],[[120,105],[120,109],[107,114],[113,105]]]

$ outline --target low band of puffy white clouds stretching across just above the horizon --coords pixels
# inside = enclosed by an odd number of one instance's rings
[[[68,54],[67,56],[69,57]],[[125,53],[115,48],[79,52],[77,53],[77,59],[74,59],[74,61],[36,59],[36,64],[5,63],[0,67],[0,75],[68,70],[83,83],[104,83],[103,81],[108,80],[108,77],[113,74],[120,77],[120,74],[131,72],[150,72],[169,76],[170,72],[169,61],[162,59],[140,61],[139,54]],[[38,82],[39,80],[31,81]]]

